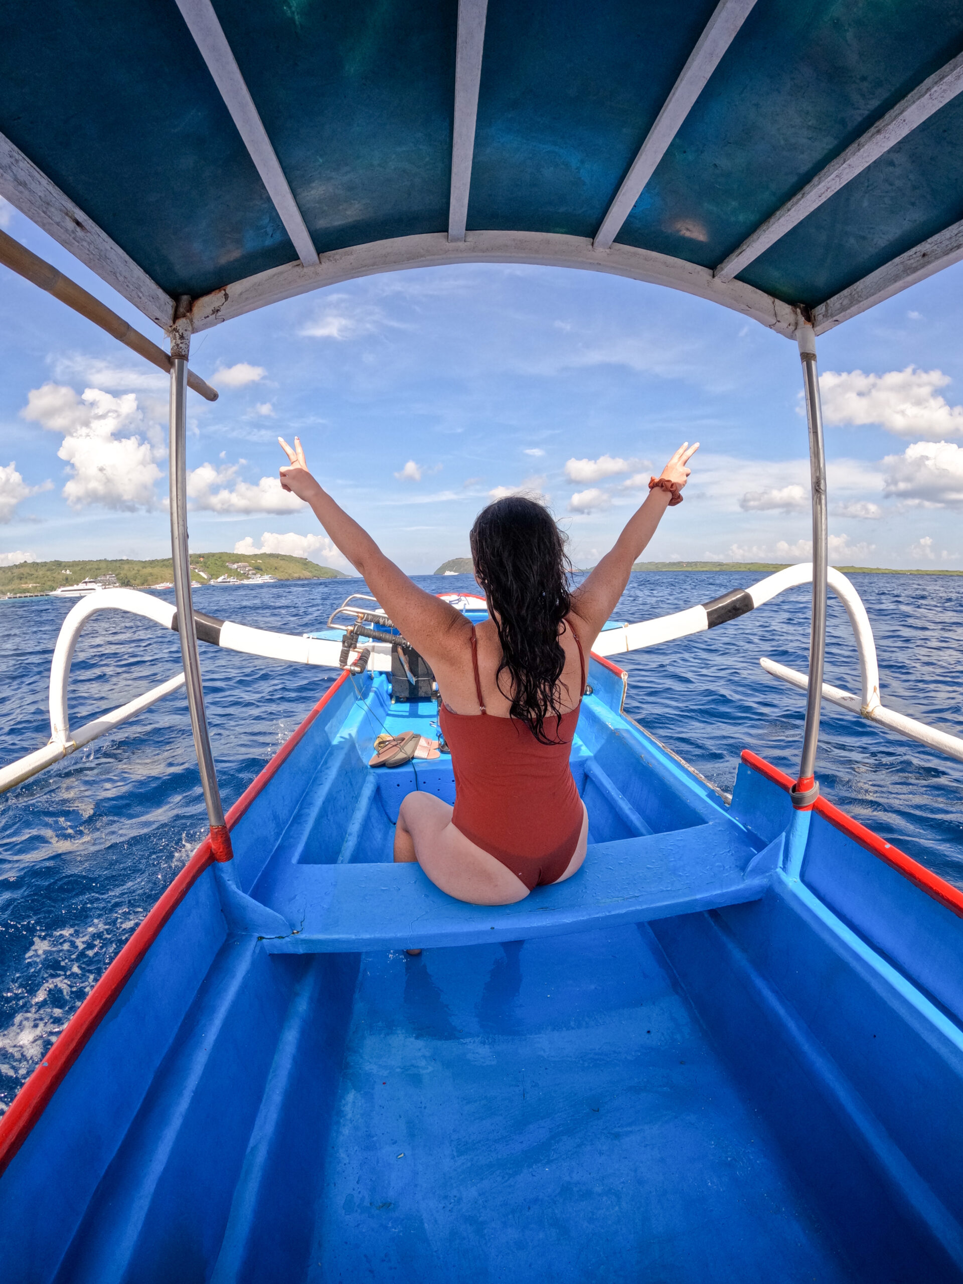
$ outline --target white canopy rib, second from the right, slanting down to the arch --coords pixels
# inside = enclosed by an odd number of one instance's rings
[[[772,217],[747,236],[715,270],[720,281],[729,281],[759,256],[785,236],[806,214],[811,214],[824,200],[828,200],[840,187],[845,186],[867,166],[905,139],[918,125],[928,119],[933,112],[949,103],[963,90],[963,54],[946,63],[939,72],[898,103],[872,128],[841,152],[835,160],[820,169],[810,182],[777,209]]]

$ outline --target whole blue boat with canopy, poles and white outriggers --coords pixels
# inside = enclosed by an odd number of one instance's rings
[[[177,596],[74,607],[51,745],[4,787],[185,684],[211,826],[0,1120],[4,1284],[963,1279],[963,894],[814,779],[820,698],[962,752],[887,714],[827,569],[815,365],[819,333],[963,257],[960,45],[950,0],[51,0],[4,27],[0,193],[169,354],[5,234],[0,258],[169,370]],[[367,765],[437,718],[390,621],[202,616],[186,543],[186,390],[216,395],[191,334],[479,261],[795,339],[814,483],[813,566],[779,582],[813,582],[809,675],[778,674],[808,691],[797,774],[747,750],[720,794],[625,715],[610,659],[778,587],[615,621],[571,754],[586,864],[502,908],[390,863],[404,794],[455,787],[446,756]],[[827,587],[859,696],[822,682]],[[73,642],[113,607],[177,628],[184,675],[72,733]],[[340,668],[226,815],[198,639]]]

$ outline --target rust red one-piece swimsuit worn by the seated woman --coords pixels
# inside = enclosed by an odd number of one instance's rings
[[[586,656],[578,634],[571,633],[582,665],[580,704]],[[579,710],[577,706],[557,719],[559,743],[542,745],[521,719],[487,713],[474,624],[471,663],[482,713],[456,714],[442,705],[438,719],[455,769],[452,823],[530,891],[565,873],[582,835],[584,811],[569,767]],[[555,727],[547,723],[546,731],[551,737]]]

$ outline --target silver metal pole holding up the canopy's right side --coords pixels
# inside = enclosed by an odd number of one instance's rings
[[[809,632],[809,692],[806,696],[806,729],[799,779],[792,790],[792,805],[808,809],[819,796],[815,783],[815,750],[819,742],[819,705],[823,692],[826,659],[826,594],[828,521],[826,507],[826,448],[823,444],[823,408],[819,401],[819,374],[815,362],[815,331],[811,322],[800,321],[796,330],[799,356],[802,362],[802,384],[806,393],[809,426],[809,474],[813,488],[813,619]]]

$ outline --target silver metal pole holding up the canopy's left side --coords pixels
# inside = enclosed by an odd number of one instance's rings
[[[189,303],[190,300],[187,300]],[[178,313],[182,308],[178,304]],[[204,790],[211,846],[214,860],[230,860],[231,838],[223,819],[221,791],[217,787],[214,758],[204,716],[204,690],[200,683],[200,659],[194,627],[194,603],[190,596],[190,555],[187,550],[187,356],[190,321],[178,318],[171,331],[171,553],[173,556],[173,589],[177,602],[177,629],[181,637],[184,678],[190,706],[190,724],[198,754],[200,785]]]

